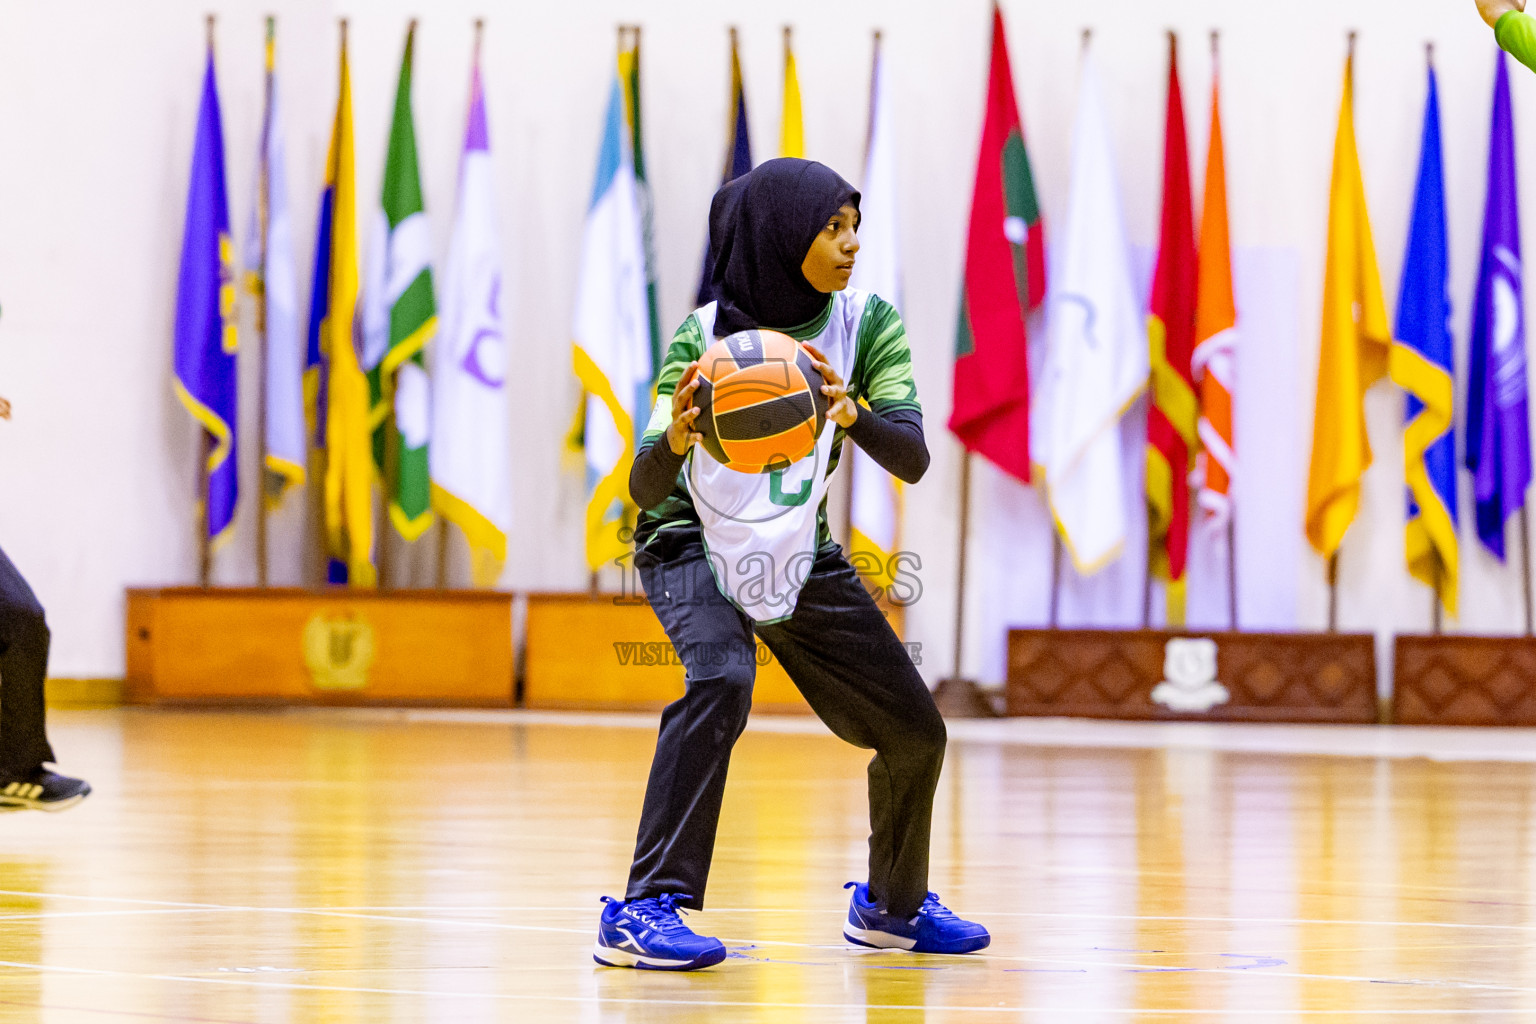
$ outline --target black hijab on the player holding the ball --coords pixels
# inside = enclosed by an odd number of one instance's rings
[[[799,327],[831,298],[800,272],[805,253],[859,190],[814,160],[782,157],[720,186],[710,203],[710,284],[717,338],[753,327]]]

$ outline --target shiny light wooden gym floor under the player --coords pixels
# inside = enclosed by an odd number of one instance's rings
[[[955,723],[932,886],[854,952],[865,754],[759,718],[696,975],[591,963],[654,717],[60,711],[95,795],[0,815],[0,1021],[1528,1021],[1527,734]]]

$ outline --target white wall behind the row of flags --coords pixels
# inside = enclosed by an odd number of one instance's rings
[[[197,438],[170,395],[170,325],[206,9],[209,5],[181,0],[0,0],[0,395],[15,404],[15,421],[0,424],[0,543],[49,608],[52,671],[60,676],[123,671],[124,586],[195,577]],[[911,639],[925,643],[925,674],[937,679],[948,671],[958,451],[943,422],[988,57],[985,0],[436,0],[421,9],[393,0],[224,2],[212,9],[220,15],[220,89],[237,241],[243,241],[249,218],[261,114],[261,18],[269,9],[280,17],[289,173],[306,275],[335,103],[335,18],[352,18],[359,192],[373,197],[406,20],[421,14],[415,112],[427,209],[441,252],[467,100],[470,23],[475,15],[487,17],[492,147],[513,289],[511,335],[524,381],[510,425],[519,439],[518,524],[502,577],[516,588],[576,588],[585,582],[581,479],[562,465],[561,439],[576,396],[567,325],[614,25],[645,26],[647,157],[668,325],[690,307],[703,215],[720,164],[725,26],[742,29],[754,154],[773,155],[777,143],[779,28],[793,23],[808,150],[851,178],[862,160],[869,29],[883,28],[899,101],[905,313],[934,450],[928,479],[908,490],[908,547],[923,557],[925,583],[908,622]],[[1250,508],[1263,510],[1241,520],[1244,614],[1255,617],[1253,625],[1263,619],[1264,625],[1321,626],[1322,567],[1301,542],[1298,496],[1310,441],[1344,32],[1350,26],[1361,32],[1359,147],[1389,301],[1395,301],[1418,158],[1422,43],[1433,38],[1438,45],[1459,348],[1465,347],[1482,216],[1490,32],[1470,0],[1296,0],[1279,6],[1012,0],[1005,14],[1048,233],[1066,203],[1080,31],[1094,26],[1130,238],[1143,261],[1157,232],[1163,32],[1175,28],[1184,43],[1181,74],[1200,195],[1209,98],[1206,32],[1213,26],[1223,31],[1233,246],[1240,264],[1267,267],[1255,272],[1255,289],[1284,295],[1276,281],[1289,275],[1295,296],[1293,309],[1276,310],[1256,325],[1264,361],[1250,364],[1244,356],[1243,365],[1264,370],[1244,378],[1238,391],[1249,408],[1278,410],[1275,422],[1258,425],[1264,436],[1255,451],[1266,453],[1264,464],[1244,464],[1240,482]],[[1533,167],[1536,80],[1519,68],[1513,78],[1521,164]],[[1527,238],[1536,238],[1530,232],[1536,227],[1536,195],[1530,192],[1525,210]],[[1240,281],[1240,298],[1243,292]],[[247,401],[244,411],[252,413],[253,402]],[[1421,629],[1428,623],[1430,599],[1409,580],[1401,556],[1401,396],[1378,388],[1369,416],[1376,468],[1344,548],[1341,623]],[[247,418],[247,439],[249,425]],[[1241,419],[1240,428],[1253,430],[1249,419]],[[1127,431],[1134,436],[1135,424]],[[241,457],[249,499],[255,453],[247,445]],[[985,554],[972,562],[982,568],[972,576],[966,668],[997,682],[1003,625],[1043,620],[1049,543],[1034,494],[982,467],[977,496],[985,514],[977,516],[974,551]],[[1276,514],[1276,508],[1293,508],[1295,514]],[[300,510],[301,502],[293,502],[275,525],[278,582],[296,579]],[[220,582],[253,577],[252,514],[247,500],[240,533],[218,559]],[[1273,525],[1255,533],[1253,522]],[[1516,574],[1476,551],[1470,528],[1464,536],[1461,628],[1516,628]],[[416,559],[416,570],[427,562]],[[1118,596],[1107,603],[1080,603],[1074,613],[1078,620],[1114,620],[1126,606],[1140,608],[1140,567],[1123,567],[1114,580],[1084,591],[1112,586]],[[1197,606],[1209,606],[1207,599],[1197,596]]]

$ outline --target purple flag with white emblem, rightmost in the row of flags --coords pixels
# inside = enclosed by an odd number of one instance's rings
[[[1525,299],[1514,173],[1514,115],[1504,51],[1493,80],[1488,198],[1482,259],[1471,309],[1467,375],[1467,468],[1478,508],[1478,537],[1504,559],[1504,524],[1525,504],[1531,447],[1525,384]]]

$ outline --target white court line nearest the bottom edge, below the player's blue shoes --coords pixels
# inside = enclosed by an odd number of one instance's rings
[[[370,986],[321,986],[307,983],[289,983],[289,981],[253,981],[246,978],[198,978],[195,975],[157,975],[157,973],[137,973],[132,970],[106,970],[101,967],[61,967],[55,964],[29,964],[25,961],[0,960],[0,967],[12,967],[18,970],[35,970],[38,973],[61,973],[61,975],[84,975],[97,978],[127,978],[132,981],[170,981],[181,984],[212,984],[212,986],[237,986],[246,989],[275,989],[275,990],[292,990],[292,992],[347,992],[356,995],[387,995],[387,996],[427,996],[427,998],[458,998],[458,999],[492,999],[498,1003],[576,1003],[576,1004],[593,1004],[593,1006],[677,1006],[677,1007],[762,1007],[774,1010],[868,1010],[871,1009],[868,1003],[768,1003],[768,1001],[746,1001],[746,999],[639,999],[639,998],[608,998],[601,995],[535,995],[535,993],[507,993],[507,992],[462,992],[456,989],[376,989]],[[1235,972],[1244,973],[1244,972]],[[1379,979],[1372,979],[1379,981]],[[1409,983],[1422,984],[1422,983]],[[1263,1010],[1235,1010],[1235,1009],[1155,1009],[1155,1007],[1063,1007],[1063,1006],[955,1006],[955,1004],[882,1004],[882,1010],[945,1010],[949,1013],[992,1013],[992,1015],[1018,1015],[1018,1013],[1132,1013],[1132,1015],[1157,1015],[1157,1016],[1273,1016],[1273,1009]],[[1444,1016],[1450,1012],[1445,1007],[1438,1009],[1382,1009],[1382,1010],[1310,1010],[1310,1009],[1292,1009],[1287,1010],[1293,1016],[1335,1016],[1335,1015],[1352,1015],[1352,1016]],[[1465,1010],[1478,1015],[1528,1015],[1525,1009],[1501,1009],[1501,1007],[1478,1007],[1473,1010]]]

